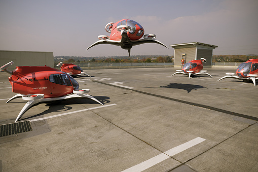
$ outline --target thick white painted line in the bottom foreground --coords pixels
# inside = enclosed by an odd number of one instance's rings
[[[182,145],[174,147],[174,148],[172,148],[172,149],[170,149],[170,150],[168,150],[168,151],[166,151],[164,153],[161,153],[161,154],[159,154],[159,155],[157,155],[157,156],[155,156],[155,157],[153,157],[151,159],[148,159],[148,160],[146,160],[144,162],[141,162],[141,163],[139,163],[139,164],[137,164],[135,166],[127,168],[126,170],[123,170],[121,172],[143,171],[143,170],[145,170],[147,168],[152,167],[153,165],[156,165],[159,162],[164,161],[165,159],[168,159],[169,157],[171,157],[173,155],[176,155],[176,154],[178,154],[178,153],[180,153],[182,151],[185,151],[185,150],[187,150],[187,149],[189,149],[189,148],[191,148],[191,147],[193,147],[193,146],[195,146],[195,145],[197,145],[199,143],[202,143],[203,141],[205,141],[205,139],[202,139],[201,137],[197,137],[197,138],[195,138],[195,139],[193,139],[193,140],[191,140],[189,142],[186,142],[186,143],[184,143]]]

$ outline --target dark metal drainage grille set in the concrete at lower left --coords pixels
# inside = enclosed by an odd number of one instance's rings
[[[30,121],[0,125],[0,137],[32,131]]]

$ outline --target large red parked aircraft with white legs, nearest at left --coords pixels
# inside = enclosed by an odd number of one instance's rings
[[[78,82],[69,74],[49,66],[16,66],[16,69],[11,72],[8,67],[13,63],[11,61],[0,68],[0,71],[5,71],[12,75],[9,77],[9,82],[12,85],[13,92],[18,93],[6,103],[19,97],[28,100],[15,122],[29,108],[42,102],[84,97],[103,105],[93,96],[86,94],[90,92],[89,89],[79,89]]]

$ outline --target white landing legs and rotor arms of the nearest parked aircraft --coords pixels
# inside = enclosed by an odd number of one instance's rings
[[[83,97],[83,98],[90,98],[94,101],[97,101],[100,105],[103,105],[99,100],[97,100],[93,96],[91,96],[89,94],[85,94],[85,93],[88,93],[88,92],[90,92],[89,89],[73,90],[73,94],[65,95],[65,96],[61,96],[61,97],[53,97],[53,98],[44,98],[44,94],[28,94],[28,95],[17,94],[15,96],[13,96],[12,98],[10,98],[6,103],[8,103],[9,101],[11,101],[15,98],[20,98],[20,97],[22,97],[22,99],[24,99],[24,100],[28,100],[28,102],[24,105],[21,112],[17,116],[17,118],[15,120],[15,122],[17,122],[22,117],[22,115],[27,110],[29,110],[32,106],[34,106],[36,104],[43,103],[43,102]]]

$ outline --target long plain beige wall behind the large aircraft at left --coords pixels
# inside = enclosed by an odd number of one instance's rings
[[[3,51],[0,50],[0,66],[13,61],[14,64],[9,67],[12,71],[15,66],[50,66],[54,67],[53,52],[37,52],[37,51]]]

